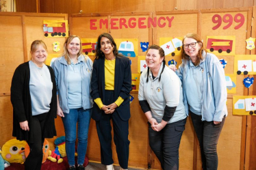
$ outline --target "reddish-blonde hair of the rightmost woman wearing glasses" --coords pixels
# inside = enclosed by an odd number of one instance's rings
[[[185,38],[192,38],[194,40],[196,40],[196,42],[198,42],[201,45],[201,48],[199,49],[199,53],[197,54],[197,60],[196,63],[194,63],[196,66],[199,65],[200,60],[203,59],[203,51],[205,51],[205,53],[207,53],[206,49],[203,46],[203,42],[202,39],[199,35],[197,35],[196,33],[188,33],[187,35],[184,36],[183,40],[182,40],[182,44],[184,45],[184,40]],[[185,51],[184,51],[184,46],[182,45],[181,48],[181,59],[186,59],[186,60],[190,60],[190,56],[188,56]]]

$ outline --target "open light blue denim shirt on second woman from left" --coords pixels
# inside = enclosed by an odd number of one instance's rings
[[[89,57],[80,55],[81,61],[81,77],[82,77],[82,107],[84,110],[92,108],[92,97],[90,96],[90,81],[92,78],[92,60]],[[57,85],[57,95],[59,95],[60,107],[64,113],[69,113],[68,109],[68,63],[64,56],[55,59],[53,62],[53,70]],[[90,79],[88,79],[90,74]]]

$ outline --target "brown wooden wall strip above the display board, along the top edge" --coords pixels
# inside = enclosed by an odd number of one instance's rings
[[[40,3],[42,13],[84,14],[102,12],[157,12],[177,10],[195,10],[212,8],[240,8],[256,5],[254,0],[16,0],[17,12],[37,12],[36,2]]]

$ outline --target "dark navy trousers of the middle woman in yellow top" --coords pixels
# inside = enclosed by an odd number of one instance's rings
[[[105,105],[112,104],[114,101],[114,91],[105,91]],[[114,128],[114,143],[116,145],[116,153],[118,156],[118,162],[123,169],[128,168],[129,158],[129,121],[123,121],[120,119],[118,113],[114,111],[112,114],[105,114],[104,111],[101,115],[101,119],[96,122],[99,141],[101,143],[101,163],[103,165],[113,164],[112,159],[112,134],[110,119],[113,122]]]

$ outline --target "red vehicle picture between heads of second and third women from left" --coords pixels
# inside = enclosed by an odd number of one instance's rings
[[[97,38],[81,38],[82,53],[86,55],[95,55],[97,47]]]

